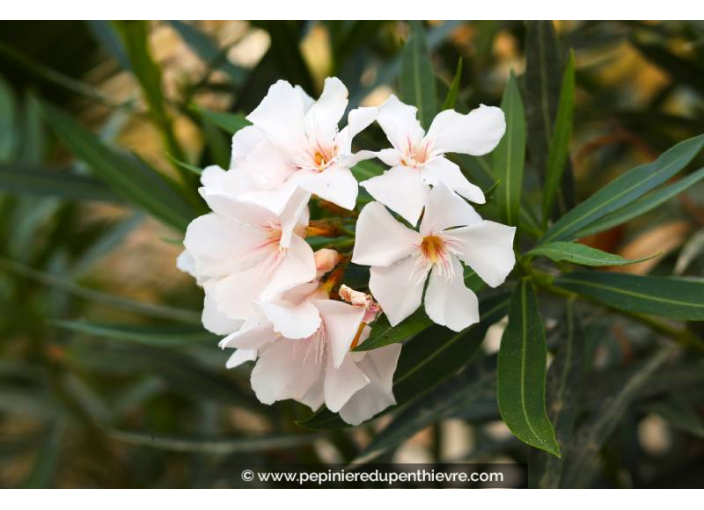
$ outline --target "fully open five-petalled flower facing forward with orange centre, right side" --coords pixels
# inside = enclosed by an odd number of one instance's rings
[[[461,331],[479,321],[479,306],[460,261],[491,287],[500,285],[515,264],[516,229],[483,220],[441,182],[428,194],[419,230],[372,202],[359,215],[352,262],[371,266],[369,289],[392,326],[420,306],[429,279],[428,317]]]

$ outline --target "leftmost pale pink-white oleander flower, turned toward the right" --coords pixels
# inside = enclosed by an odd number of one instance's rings
[[[181,260],[205,290],[203,323],[216,334],[231,333],[238,324],[233,321],[254,313],[254,302],[310,282],[316,274],[313,250],[301,235],[308,224],[305,203],[291,202],[279,217],[212,187],[211,178],[235,172],[211,170],[204,179],[201,194],[216,212],[188,226],[187,255]]]

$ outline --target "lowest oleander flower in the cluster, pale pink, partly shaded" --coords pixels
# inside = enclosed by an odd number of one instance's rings
[[[313,410],[325,403],[353,425],[396,403],[393,374],[401,346],[350,352],[369,335],[364,306],[328,299],[312,282],[258,308],[220,345],[237,349],[228,368],[257,360],[251,382],[261,402],[293,399]]]

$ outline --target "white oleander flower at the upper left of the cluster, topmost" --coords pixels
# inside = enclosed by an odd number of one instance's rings
[[[337,78],[325,80],[317,101],[286,81],[272,85],[247,116],[252,126],[233,137],[231,166],[245,170],[255,188],[242,200],[281,214],[301,190],[354,209],[358,188],[350,168],[374,154],[353,154],[352,139],[374,122],[378,109],[352,110],[347,127],[338,131],[347,96]]]

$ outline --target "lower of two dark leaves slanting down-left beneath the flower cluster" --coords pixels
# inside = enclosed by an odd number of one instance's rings
[[[496,398],[496,372],[484,367],[468,368],[434,390],[409,402],[391,423],[379,432],[352,464],[370,462],[396,448],[419,430],[450,418],[458,409],[471,407],[486,399]]]

